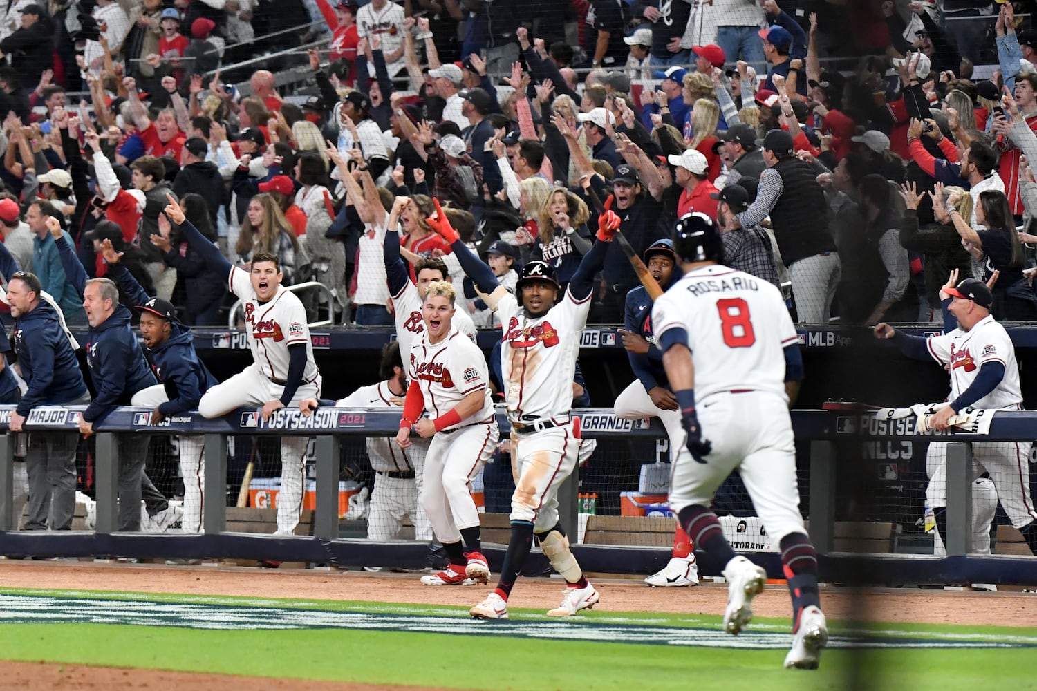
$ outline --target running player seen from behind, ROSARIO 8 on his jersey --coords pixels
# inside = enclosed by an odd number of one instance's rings
[[[795,634],[785,666],[815,669],[828,627],[795,481],[788,411],[803,378],[795,326],[778,288],[721,263],[724,244],[709,217],[696,212],[677,221],[674,251],[684,276],[652,307],[686,433],[672,471],[670,508],[694,543],[725,565],[724,628],[738,634],[752,618],[751,602],[763,591],[766,573],[735,555],[709,510],[717,488],[738,470],[781,546]]]

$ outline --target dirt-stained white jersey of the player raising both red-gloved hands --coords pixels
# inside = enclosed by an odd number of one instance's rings
[[[569,414],[580,337],[589,311],[590,295],[581,301],[568,290],[555,307],[535,319],[511,293],[497,304],[504,329],[501,374],[509,420]]]

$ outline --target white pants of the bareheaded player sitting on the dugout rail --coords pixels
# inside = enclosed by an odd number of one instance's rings
[[[274,383],[263,375],[258,365],[239,372],[226,381],[209,388],[198,403],[202,418],[220,418],[235,408],[261,407],[277,400],[284,385]],[[304,398],[320,397],[320,376],[300,384],[287,407],[299,407]],[[310,437],[281,437],[281,491],[277,495],[277,530],[274,535],[293,535],[303,513],[303,480],[306,474],[306,450]]]

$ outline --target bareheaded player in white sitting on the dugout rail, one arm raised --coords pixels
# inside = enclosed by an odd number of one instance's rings
[[[184,217],[172,196],[166,215],[179,225],[184,237],[213,269],[226,271],[227,285],[245,305],[245,321],[252,365],[209,388],[198,403],[202,418],[219,418],[234,408],[262,406],[262,419],[275,410],[298,406],[304,398],[319,398],[320,372],[313,359],[313,344],[306,322],[306,308],[281,285],[277,257],[259,253],[252,268],[231,266],[220,250]],[[309,437],[281,437],[281,491],[277,497],[277,530],[292,535],[303,511],[303,480]],[[271,564],[273,566],[273,563]]]

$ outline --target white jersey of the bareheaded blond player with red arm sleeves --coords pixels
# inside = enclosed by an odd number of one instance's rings
[[[486,358],[456,327],[439,343],[428,343],[422,334],[411,349],[407,378],[417,381],[425,399],[425,411],[432,419],[450,411],[466,396],[483,390],[483,404],[476,413],[448,427],[452,431],[466,425],[489,423],[494,420],[494,403],[489,397],[489,376]]]

